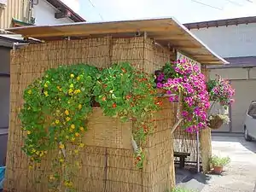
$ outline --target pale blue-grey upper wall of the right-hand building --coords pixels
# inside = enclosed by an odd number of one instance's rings
[[[191,29],[191,32],[222,57],[256,55],[256,23]]]

